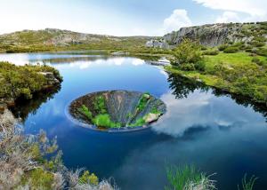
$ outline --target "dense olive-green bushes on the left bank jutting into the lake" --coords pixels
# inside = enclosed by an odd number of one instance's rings
[[[54,78],[46,77],[44,72],[52,73]],[[61,75],[53,67],[15,66],[9,62],[0,62],[0,99],[32,99],[36,91],[44,90],[61,81]]]

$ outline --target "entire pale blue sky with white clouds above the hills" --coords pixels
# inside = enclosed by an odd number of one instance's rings
[[[182,27],[267,21],[267,0],[0,0],[0,34],[60,28],[163,36]]]

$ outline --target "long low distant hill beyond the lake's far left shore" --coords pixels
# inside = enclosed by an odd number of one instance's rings
[[[46,28],[23,30],[0,36],[2,51],[42,51],[63,49],[129,49],[144,46],[149,36],[102,36]]]

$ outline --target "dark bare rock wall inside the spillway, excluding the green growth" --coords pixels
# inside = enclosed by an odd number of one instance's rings
[[[166,113],[166,105],[160,99],[150,96],[150,99],[142,111],[136,111],[136,107],[142,98],[142,92],[139,91],[99,91],[87,94],[81,98],[74,100],[70,107],[70,114],[76,118],[86,121],[85,115],[81,115],[77,111],[77,107],[85,105],[90,109],[93,115],[93,102],[99,96],[105,98],[105,106],[107,107],[110,118],[115,123],[121,123],[123,126],[126,124],[135,123],[138,119],[148,115],[153,107],[162,114]]]

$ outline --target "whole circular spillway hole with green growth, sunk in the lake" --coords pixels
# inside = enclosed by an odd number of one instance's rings
[[[94,130],[144,129],[166,113],[165,103],[148,92],[97,91],[70,103],[69,114]]]

